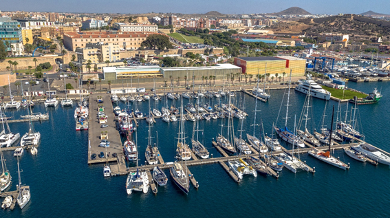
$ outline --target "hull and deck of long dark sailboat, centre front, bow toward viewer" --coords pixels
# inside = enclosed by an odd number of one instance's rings
[[[187,174],[187,166],[184,166],[186,170],[183,169],[183,160],[175,162],[172,167],[169,168],[169,172],[172,176],[172,181],[182,190],[186,195],[190,192],[190,179]]]

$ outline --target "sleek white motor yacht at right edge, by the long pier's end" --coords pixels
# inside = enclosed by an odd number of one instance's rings
[[[377,161],[385,165],[390,165],[390,156],[385,152],[378,150],[376,147],[368,144],[367,142],[361,142],[359,145],[351,147],[354,151],[361,152],[367,158]]]

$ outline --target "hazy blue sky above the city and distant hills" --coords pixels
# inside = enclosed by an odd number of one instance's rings
[[[312,14],[360,14],[374,11],[390,14],[390,0],[12,0],[2,11],[109,12],[109,13],[271,13],[297,6]],[[4,4],[5,3],[5,4]]]

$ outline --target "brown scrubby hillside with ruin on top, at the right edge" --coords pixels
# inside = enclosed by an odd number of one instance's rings
[[[307,34],[337,32],[350,35],[390,35],[390,21],[384,21],[359,15],[346,14],[316,19],[301,19],[309,25]]]

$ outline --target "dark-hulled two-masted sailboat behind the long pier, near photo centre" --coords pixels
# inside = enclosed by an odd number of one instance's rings
[[[231,111],[230,108],[230,102],[231,97],[229,96],[229,108],[228,110]],[[228,116],[228,125],[227,125],[227,138],[223,136],[223,119],[221,119],[221,134],[218,134],[216,138],[217,144],[228,154],[234,154],[236,153],[236,148],[234,147],[234,129],[232,128],[232,133],[230,133],[230,128],[233,126],[233,117]]]

